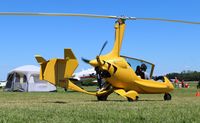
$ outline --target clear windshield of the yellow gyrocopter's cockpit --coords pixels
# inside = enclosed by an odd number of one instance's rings
[[[125,60],[127,61],[127,63],[131,66],[131,68],[136,71],[136,68],[138,66],[141,66],[142,64],[146,65],[146,72],[150,75],[150,78],[152,78],[153,75],[153,70],[154,70],[154,64],[141,60],[141,59],[136,59],[136,58],[131,58],[131,57],[127,57],[127,56],[121,56],[123,58],[125,58]]]

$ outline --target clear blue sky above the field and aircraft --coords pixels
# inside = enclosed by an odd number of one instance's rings
[[[87,13],[160,17],[200,21],[200,1],[193,0],[0,0],[0,12]],[[90,67],[81,57],[93,59],[102,44],[111,50],[114,42],[112,19],[81,17],[0,16],[0,80],[8,71],[46,59],[63,58],[63,49],[72,48],[79,68]],[[141,58],[156,65],[155,74],[200,71],[200,25],[158,21],[126,21],[121,54]],[[77,71],[78,71],[77,70]]]

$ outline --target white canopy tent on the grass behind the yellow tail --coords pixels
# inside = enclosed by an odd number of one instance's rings
[[[7,76],[5,91],[50,92],[56,87],[47,81],[39,79],[40,68],[25,65],[11,70]]]

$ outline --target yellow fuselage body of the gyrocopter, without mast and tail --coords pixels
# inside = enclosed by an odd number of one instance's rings
[[[94,65],[94,63],[91,64]],[[116,71],[115,67],[117,68]],[[109,60],[109,62],[105,60],[101,68],[111,73],[111,77],[105,78],[106,82],[109,82],[114,88],[123,89],[126,92],[134,90],[141,94],[160,94],[169,93],[174,89],[172,83],[166,77],[164,77],[164,82],[161,82],[153,79],[146,80],[137,76],[135,70],[124,57]]]

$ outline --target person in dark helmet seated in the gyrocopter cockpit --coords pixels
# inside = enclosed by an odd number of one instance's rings
[[[140,76],[142,79],[150,79],[149,74],[146,72],[147,66],[145,64],[141,64],[141,66],[137,66],[136,68],[136,75]]]

